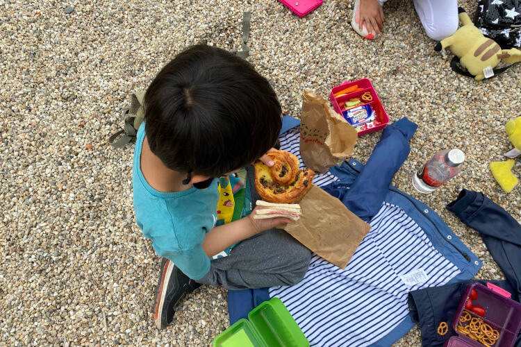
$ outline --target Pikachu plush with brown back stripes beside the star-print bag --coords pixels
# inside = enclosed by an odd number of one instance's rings
[[[459,19],[463,23],[456,33],[441,40],[434,47],[435,51],[441,51],[447,47],[454,55],[460,58],[460,65],[467,69],[477,81],[485,78],[484,71],[496,67],[503,59],[504,62],[513,64],[521,61],[521,51],[518,49],[501,49],[499,44],[489,39],[472,24],[472,21],[463,8],[458,8]]]

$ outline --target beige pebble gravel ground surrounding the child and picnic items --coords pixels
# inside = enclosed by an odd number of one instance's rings
[[[472,15],[477,0],[460,5]],[[445,205],[466,187],[520,219],[519,186],[502,192],[488,163],[511,149],[504,125],[520,115],[521,67],[479,83],[457,76],[412,1],[384,6],[385,32],[374,42],[352,31],[352,3],[340,0],[304,18],[275,0],[0,0],[0,8],[1,345],[208,346],[226,328],[226,291],[213,287],[183,301],[169,328],[154,327],[160,259],[133,218],[133,145],[113,150],[107,137],[129,93],[183,47],[237,49],[243,10],[251,10],[249,61],[290,115],[299,117],[304,88],[328,96],[370,78],[391,121],[420,125],[395,185],[479,255],[477,278],[503,278],[478,233]],[[354,158],[365,162],[379,137],[359,139]],[[428,196],[415,192],[413,172],[449,147],[467,155],[462,174]],[[520,160],[513,171],[521,175]],[[420,330],[395,346],[420,346]]]

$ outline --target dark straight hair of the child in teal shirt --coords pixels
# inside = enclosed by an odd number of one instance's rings
[[[281,130],[270,83],[246,60],[205,44],[179,53],[144,98],[151,151],[169,169],[217,177],[260,158]]]

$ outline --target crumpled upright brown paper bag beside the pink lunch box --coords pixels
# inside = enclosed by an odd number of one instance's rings
[[[300,154],[306,167],[318,173],[326,172],[353,152],[356,139],[356,130],[331,108],[329,101],[304,90]]]

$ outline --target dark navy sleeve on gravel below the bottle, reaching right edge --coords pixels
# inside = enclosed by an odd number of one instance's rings
[[[490,198],[467,189],[447,210],[481,234],[499,269],[521,296],[521,224]]]

